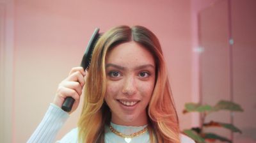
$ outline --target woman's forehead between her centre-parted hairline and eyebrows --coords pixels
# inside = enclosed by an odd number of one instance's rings
[[[121,43],[113,47],[106,56],[106,63],[116,64],[152,64],[155,60],[147,47],[135,41]]]

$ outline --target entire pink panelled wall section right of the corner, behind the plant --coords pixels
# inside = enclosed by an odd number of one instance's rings
[[[231,17],[228,17],[228,2]],[[235,113],[233,117],[228,112],[219,112],[207,119],[233,122],[243,134],[231,134],[228,130],[215,130],[215,133],[233,139],[235,143],[256,142],[255,6],[256,1],[253,0],[191,1],[192,45],[204,46],[204,52],[193,55],[193,83],[199,85],[193,85],[193,94],[198,89],[202,102],[211,105],[225,99],[233,100],[243,107],[244,112]],[[234,45],[229,45],[229,35]],[[200,75],[196,74],[196,69]]]

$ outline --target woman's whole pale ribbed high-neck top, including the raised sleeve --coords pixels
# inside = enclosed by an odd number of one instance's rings
[[[38,125],[35,132],[31,135],[31,137],[28,140],[28,143],[41,143],[41,142],[54,142],[54,139],[56,138],[57,133],[60,131],[60,128],[63,126],[65,121],[68,119],[67,112],[60,109],[60,107],[57,107],[54,104],[51,104],[49,109],[47,110],[44,118],[42,119],[42,122]],[[140,130],[143,130],[145,126],[120,126],[118,124],[111,123],[113,128],[115,130],[118,130],[118,132],[122,132],[124,134],[131,134],[134,132],[138,132]],[[71,130],[67,135],[65,135],[61,140],[58,140],[58,143],[77,143],[78,130],[77,128],[74,128]],[[126,140],[126,141],[125,141]],[[115,135],[115,133],[112,133],[108,126],[105,128],[105,143],[113,143],[113,142],[124,142],[124,143],[149,143],[149,133],[143,133],[142,135],[138,137],[134,137],[132,139],[124,139],[122,137],[119,137],[118,135]],[[190,139],[186,135],[180,134],[180,142],[181,143],[195,143],[194,140]]]

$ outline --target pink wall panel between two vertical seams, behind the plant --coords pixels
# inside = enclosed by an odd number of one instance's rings
[[[228,29],[228,1],[216,1],[198,14],[200,54],[200,96],[202,103],[215,105],[230,100],[230,56]],[[230,123],[229,112],[210,114],[206,119]],[[230,132],[221,128],[205,128],[230,139]]]

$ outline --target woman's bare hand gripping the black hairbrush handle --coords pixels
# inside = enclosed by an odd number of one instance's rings
[[[53,103],[61,108],[65,98],[68,96],[71,96],[74,98],[75,102],[72,107],[72,110],[68,112],[68,114],[71,114],[74,112],[80,101],[80,96],[82,94],[82,89],[84,86],[84,76],[86,75],[86,72],[84,72],[83,67],[78,66],[75,68],[72,68],[70,71],[68,77],[64,79],[62,82],[60,82],[58,89],[56,91],[56,95],[54,98]]]

